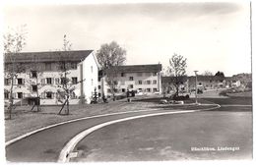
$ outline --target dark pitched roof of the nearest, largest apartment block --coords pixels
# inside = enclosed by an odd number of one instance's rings
[[[21,53],[6,53],[5,63],[11,63],[12,59],[15,63],[30,63],[30,62],[57,62],[57,61],[83,61],[94,50],[76,50],[76,51],[49,51],[49,52],[21,52]],[[12,55],[11,55],[12,54]]]

